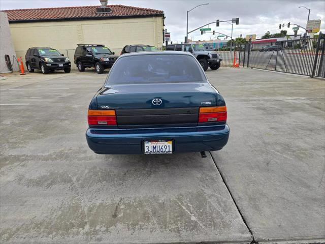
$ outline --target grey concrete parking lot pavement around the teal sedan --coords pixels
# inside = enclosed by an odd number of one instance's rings
[[[324,80],[208,70],[225,148],[105,156],[84,134],[107,73],[0,81],[1,243],[325,242]]]

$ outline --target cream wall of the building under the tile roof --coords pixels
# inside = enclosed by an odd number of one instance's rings
[[[73,62],[77,44],[105,44],[115,54],[128,44],[163,45],[163,17],[10,23],[16,53],[52,47]],[[76,68],[72,65],[72,68]]]

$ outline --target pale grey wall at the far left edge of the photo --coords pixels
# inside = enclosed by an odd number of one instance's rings
[[[15,59],[16,53],[10,34],[8,17],[6,13],[0,12],[0,73],[11,72],[6,65],[6,54],[10,57],[13,70],[18,71],[19,68]]]

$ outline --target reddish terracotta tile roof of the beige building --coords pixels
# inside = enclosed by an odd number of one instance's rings
[[[99,19],[122,18],[163,15],[164,11],[145,9],[124,5],[108,5],[112,9],[109,13],[96,13],[100,6],[43,8],[43,9],[14,9],[5,10],[9,22],[44,21],[44,20],[73,20],[73,19]]]

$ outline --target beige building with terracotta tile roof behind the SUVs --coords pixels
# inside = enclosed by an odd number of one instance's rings
[[[116,54],[128,44],[163,46],[164,12],[123,5],[4,11],[17,56],[29,47],[52,47],[73,60],[77,44],[105,44]],[[75,68],[73,65],[72,68]]]

